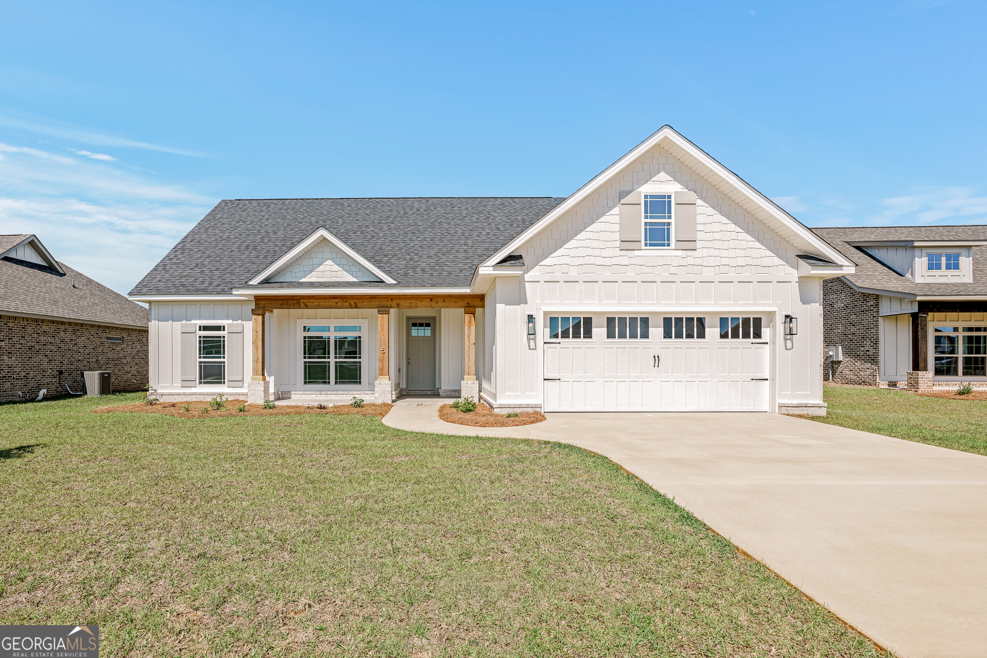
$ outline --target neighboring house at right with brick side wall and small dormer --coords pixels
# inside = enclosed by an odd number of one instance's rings
[[[987,226],[814,232],[856,264],[823,285],[833,381],[987,388]]]

